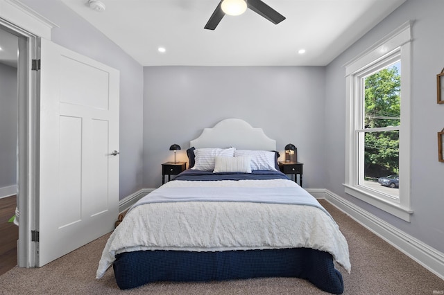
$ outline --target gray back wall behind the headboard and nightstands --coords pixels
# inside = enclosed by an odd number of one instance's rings
[[[144,68],[144,186],[161,183],[161,163],[178,158],[204,127],[241,118],[298,147],[305,188],[324,184],[325,69],[316,66],[153,66]]]

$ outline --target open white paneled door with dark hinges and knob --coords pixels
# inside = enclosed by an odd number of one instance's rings
[[[39,267],[114,229],[119,71],[41,39]]]

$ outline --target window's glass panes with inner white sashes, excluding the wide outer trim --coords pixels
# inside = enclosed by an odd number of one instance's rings
[[[359,108],[356,122],[357,182],[392,199],[399,198],[399,186],[395,181],[379,183],[378,180],[399,174],[400,66],[400,55],[396,52],[358,73],[356,80],[356,86],[362,89],[356,93]]]

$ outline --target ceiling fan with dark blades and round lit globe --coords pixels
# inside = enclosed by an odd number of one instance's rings
[[[230,6],[234,8],[234,12],[230,12]],[[285,19],[283,15],[266,5],[266,3],[261,0],[221,0],[205,25],[205,28],[207,30],[214,30],[225,14],[241,15],[245,12],[246,8],[250,8],[258,15],[271,21],[273,24],[279,24]]]

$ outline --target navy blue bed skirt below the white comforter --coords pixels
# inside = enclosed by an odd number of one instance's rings
[[[296,277],[309,280],[325,292],[343,292],[342,275],[335,269],[332,255],[307,248],[124,252],[116,256],[113,269],[121,289],[157,281]]]

